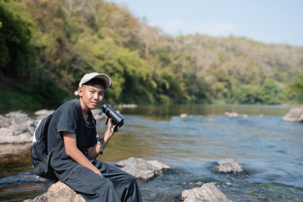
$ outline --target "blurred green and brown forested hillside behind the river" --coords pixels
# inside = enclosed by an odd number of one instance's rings
[[[55,108],[90,72],[112,104],[303,103],[303,47],[173,37],[104,0],[0,0],[1,110]]]

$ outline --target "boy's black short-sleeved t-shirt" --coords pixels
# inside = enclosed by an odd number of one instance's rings
[[[88,115],[89,118],[86,120],[83,116],[80,102],[76,99],[67,101],[59,106],[50,120],[48,152],[55,148],[63,139],[62,132],[68,131],[76,134],[77,148],[89,160],[93,160],[87,155],[86,149],[94,147],[97,144],[96,119],[91,111],[89,111]],[[65,146],[51,158],[50,165],[61,181],[65,181],[80,166],[80,164],[66,154]]]

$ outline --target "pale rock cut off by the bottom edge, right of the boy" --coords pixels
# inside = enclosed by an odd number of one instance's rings
[[[213,183],[206,183],[202,187],[184,190],[180,199],[184,202],[232,202]]]

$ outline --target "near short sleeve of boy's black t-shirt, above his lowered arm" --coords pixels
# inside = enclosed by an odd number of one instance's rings
[[[57,133],[68,131],[75,133],[77,131],[77,108],[72,102],[66,102],[65,106],[58,112]]]

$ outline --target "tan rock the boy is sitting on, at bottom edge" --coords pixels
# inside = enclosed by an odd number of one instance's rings
[[[50,186],[47,193],[23,202],[85,202],[85,200],[66,184],[58,181]]]

